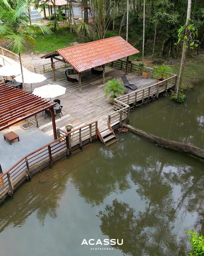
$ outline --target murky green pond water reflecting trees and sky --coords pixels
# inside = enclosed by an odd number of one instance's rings
[[[130,125],[204,148],[203,105],[204,84],[184,104],[137,107]],[[186,232],[204,230],[204,163],[130,132],[117,137],[112,150],[92,143],[0,206],[0,256],[187,255]]]

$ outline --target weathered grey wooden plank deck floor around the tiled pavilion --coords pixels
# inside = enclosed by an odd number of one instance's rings
[[[107,128],[108,114],[113,112],[113,105],[109,103],[109,97],[104,98],[103,88],[105,84],[102,84],[102,75],[92,74],[91,70],[84,71],[81,76],[82,93],[79,93],[78,82],[71,83],[67,81],[65,70],[65,68],[55,70],[55,82],[52,79],[51,72],[45,73],[47,80],[42,83],[32,84],[32,90],[45,84],[59,84],[67,88],[64,95],[55,98],[60,99],[63,106],[61,119],[56,116],[56,126],[62,130],[69,123],[76,128],[96,120],[98,120],[99,130],[105,130]],[[125,75],[125,70],[109,66],[105,67],[105,83],[113,78],[122,81],[121,76],[123,75]],[[156,79],[142,79],[142,76],[137,76],[135,73],[128,73],[127,79],[130,83],[136,84],[138,90],[156,83]],[[28,92],[31,91],[30,84],[26,84],[26,90]],[[131,90],[128,92],[130,93]],[[45,119],[45,114],[40,113],[37,115],[37,119],[42,131],[49,135],[53,134],[49,117]]]

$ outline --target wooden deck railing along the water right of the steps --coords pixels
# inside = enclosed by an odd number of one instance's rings
[[[177,76],[173,75],[156,84],[135,90],[131,93],[119,96],[113,101],[114,112],[108,115],[108,122],[112,126],[122,125],[123,121],[129,122],[130,105],[142,105],[147,101],[157,99],[160,93],[167,92],[168,89],[176,85]]]

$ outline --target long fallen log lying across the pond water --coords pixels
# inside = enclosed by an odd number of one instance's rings
[[[204,149],[197,148],[190,144],[185,144],[173,140],[167,140],[162,137],[155,136],[153,134],[149,134],[145,131],[142,131],[140,129],[137,129],[131,125],[123,124],[125,128],[127,128],[129,131],[132,131],[134,134],[145,138],[147,140],[150,140],[154,144],[160,146],[161,148],[168,148],[172,150],[176,150],[178,152],[182,152],[185,154],[189,154],[192,157],[196,157],[199,160],[204,161]]]

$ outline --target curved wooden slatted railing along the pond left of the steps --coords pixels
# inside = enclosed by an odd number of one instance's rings
[[[8,171],[0,175],[0,203],[9,195],[13,195],[14,190],[35,173],[52,166],[57,160],[96,140],[96,131],[97,121],[83,125],[69,133],[58,129],[57,140],[26,155]]]

